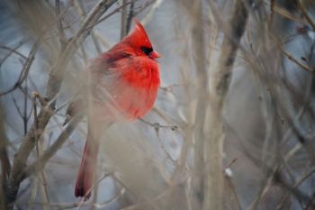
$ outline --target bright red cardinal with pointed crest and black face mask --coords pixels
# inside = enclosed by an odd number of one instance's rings
[[[152,108],[159,87],[157,51],[153,50],[141,23],[121,42],[94,59],[86,70],[89,94],[67,109],[74,115],[83,108],[88,114],[85,150],[76,178],[76,196],[91,196],[94,168],[101,133],[120,120],[135,120]],[[87,103],[86,103],[87,102]]]

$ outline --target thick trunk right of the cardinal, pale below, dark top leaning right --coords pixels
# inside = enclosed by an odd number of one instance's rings
[[[246,1],[250,5],[250,1]],[[205,187],[203,209],[224,209],[222,157],[225,100],[232,78],[232,68],[238,51],[239,42],[247,24],[247,5],[237,0],[229,19],[228,32],[221,45],[218,67],[210,81],[210,123],[209,138],[205,142]]]

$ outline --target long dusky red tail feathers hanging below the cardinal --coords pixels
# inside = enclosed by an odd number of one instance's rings
[[[85,150],[81,160],[80,169],[76,177],[76,196],[85,196],[85,198],[89,198],[91,196],[99,142],[99,139],[93,139],[89,133],[87,134]]]

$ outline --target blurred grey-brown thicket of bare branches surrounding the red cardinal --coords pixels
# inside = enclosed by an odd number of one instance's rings
[[[143,23],[161,87],[74,196],[89,60]],[[1,209],[315,209],[312,0],[0,1]]]

